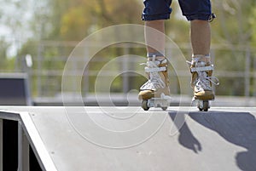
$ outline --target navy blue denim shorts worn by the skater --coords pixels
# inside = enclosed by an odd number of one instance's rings
[[[172,13],[172,0],[144,0],[143,20],[166,20]],[[178,0],[187,20],[209,20],[212,14],[211,0]]]

